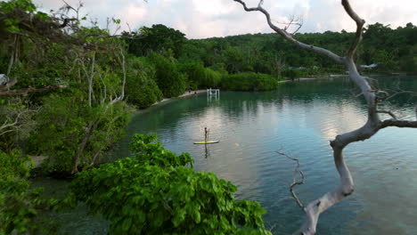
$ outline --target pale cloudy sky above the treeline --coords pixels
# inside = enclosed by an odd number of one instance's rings
[[[33,0],[43,11],[58,9],[61,0]],[[78,0],[67,0],[77,5]],[[247,0],[256,6],[258,0]],[[417,0],[351,0],[356,12],[367,23],[380,22],[393,28],[407,22],[417,25]],[[244,12],[233,0],[83,0],[84,14],[97,19],[102,27],[107,17],[122,20],[132,29],[164,24],[182,31],[188,38],[230,36],[271,32],[260,12]],[[291,15],[304,19],[300,32],[355,30],[340,0],[265,0],[264,7],[276,22],[286,22]]]

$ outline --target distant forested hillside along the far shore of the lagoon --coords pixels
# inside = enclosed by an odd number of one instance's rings
[[[142,28],[139,40],[127,39],[128,52],[145,56],[167,50],[180,64],[199,64],[227,74],[253,72],[277,79],[290,78],[291,70],[298,76],[320,76],[344,73],[343,66],[334,64],[321,54],[299,49],[276,34],[186,39],[178,30],[163,25]],[[126,33],[137,36],[138,33]],[[346,30],[324,33],[298,33],[299,41],[344,54],[354,38]],[[364,28],[364,40],[357,49],[356,64],[377,64],[374,73],[417,72],[417,27],[408,23],[396,29],[375,23]]]

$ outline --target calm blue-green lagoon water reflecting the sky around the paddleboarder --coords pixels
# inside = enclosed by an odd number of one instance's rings
[[[417,91],[417,77],[375,78],[382,88]],[[289,234],[303,219],[289,198],[295,162],[275,151],[299,159],[307,182],[296,192],[305,204],[336,187],[339,174],[329,141],[364,124],[365,104],[356,94],[346,78],[333,78],[282,84],[274,92],[221,92],[218,100],[201,93],[166,101],[139,111],[109,158],[129,156],[135,133],[158,134],[166,149],[190,152],[197,171],[233,182],[238,199],[258,200],[274,234]],[[398,95],[385,109],[415,119],[415,101]],[[219,143],[192,144],[204,139],[205,126],[209,139]],[[356,191],[320,216],[317,234],[416,234],[417,130],[381,130],[371,140],[349,145],[345,155]],[[65,224],[71,234],[79,225]],[[81,231],[76,233],[100,234]]]

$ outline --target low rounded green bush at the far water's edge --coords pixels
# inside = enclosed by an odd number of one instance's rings
[[[221,87],[232,91],[268,91],[278,88],[278,81],[267,74],[240,73],[223,77]]]

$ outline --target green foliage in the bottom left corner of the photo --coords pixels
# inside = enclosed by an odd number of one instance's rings
[[[29,190],[29,166],[30,158],[20,151],[7,154],[0,150],[0,234],[52,232],[53,224],[37,215],[54,200],[41,199],[40,189]]]

